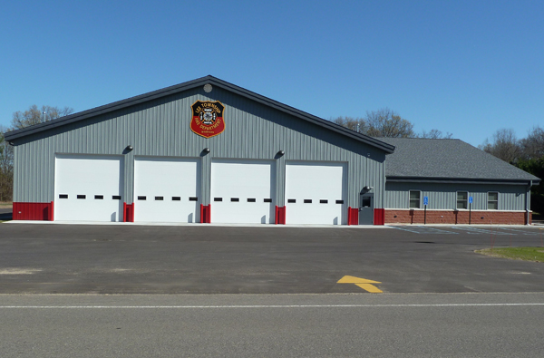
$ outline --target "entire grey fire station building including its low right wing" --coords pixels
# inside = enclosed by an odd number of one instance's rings
[[[461,140],[371,138],[212,76],[5,140],[15,220],[528,224],[539,183]]]

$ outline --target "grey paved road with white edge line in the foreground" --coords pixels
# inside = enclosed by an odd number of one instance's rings
[[[541,357],[544,294],[0,295],[5,357]]]

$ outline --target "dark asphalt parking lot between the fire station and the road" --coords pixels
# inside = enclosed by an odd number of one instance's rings
[[[493,227],[495,247],[539,227]],[[481,256],[490,227],[0,224],[0,294],[544,292],[544,265]],[[347,280],[349,281],[349,280]]]

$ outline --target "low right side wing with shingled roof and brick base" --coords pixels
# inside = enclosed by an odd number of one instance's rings
[[[536,178],[461,140],[384,139],[386,223],[528,224]]]

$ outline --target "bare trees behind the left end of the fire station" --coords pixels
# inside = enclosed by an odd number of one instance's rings
[[[14,193],[14,148],[5,141],[4,133],[15,131],[44,121],[52,121],[73,113],[69,107],[32,105],[26,111],[16,111],[11,126],[0,126],[0,202],[12,201]]]

